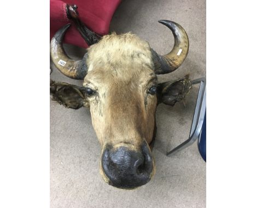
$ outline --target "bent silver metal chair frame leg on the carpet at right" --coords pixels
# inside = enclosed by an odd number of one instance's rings
[[[189,138],[185,140],[185,142],[183,142],[182,144],[176,146],[176,148],[173,148],[171,151],[168,151],[167,156],[171,156],[175,152],[181,151],[190,146],[191,144],[193,144],[195,140],[199,138],[202,130],[203,118],[205,117],[206,112],[206,78],[202,77],[199,79],[195,79],[191,83],[193,85],[200,84],[200,87],[197,95],[196,107],[189,133]]]

